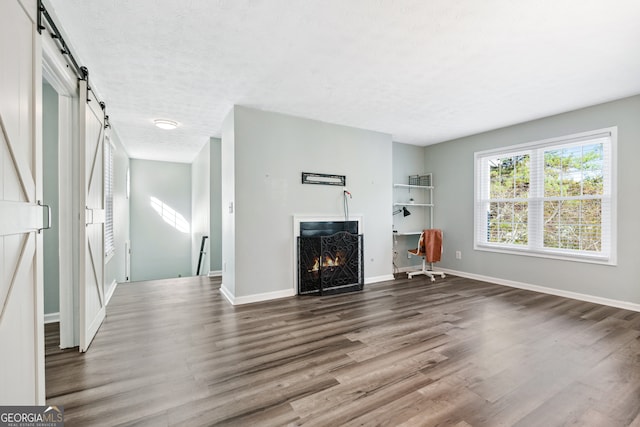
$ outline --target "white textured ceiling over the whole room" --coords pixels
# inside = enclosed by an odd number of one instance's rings
[[[48,4],[133,158],[191,162],[234,104],[428,145],[640,93],[638,0]]]

